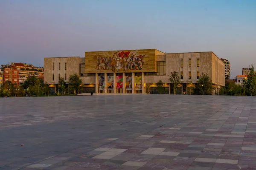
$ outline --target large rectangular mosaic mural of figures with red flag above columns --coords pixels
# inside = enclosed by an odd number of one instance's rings
[[[155,51],[150,49],[85,52],[85,72],[155,72]]]

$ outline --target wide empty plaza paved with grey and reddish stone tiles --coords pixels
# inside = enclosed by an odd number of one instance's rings
[[[1,98],[0,170],[38,169],[256,170],[256,97]]]

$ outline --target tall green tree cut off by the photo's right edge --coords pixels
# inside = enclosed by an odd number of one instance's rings
[[[245,88],[245,94],[247,96],[256,96],[256,72],[254,66],[249,67],[247,77],[243,79],[243,86]]]

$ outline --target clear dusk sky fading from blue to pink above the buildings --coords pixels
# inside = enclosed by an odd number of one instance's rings
[[[255,0],[0,0],[0,64],[156,48],[256,65]]]

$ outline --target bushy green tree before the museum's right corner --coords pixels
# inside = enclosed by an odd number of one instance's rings
[[[208,74],[201,73],[198,81],[196,82],[195,94],[211,95],[212,94],[212,80]]]

